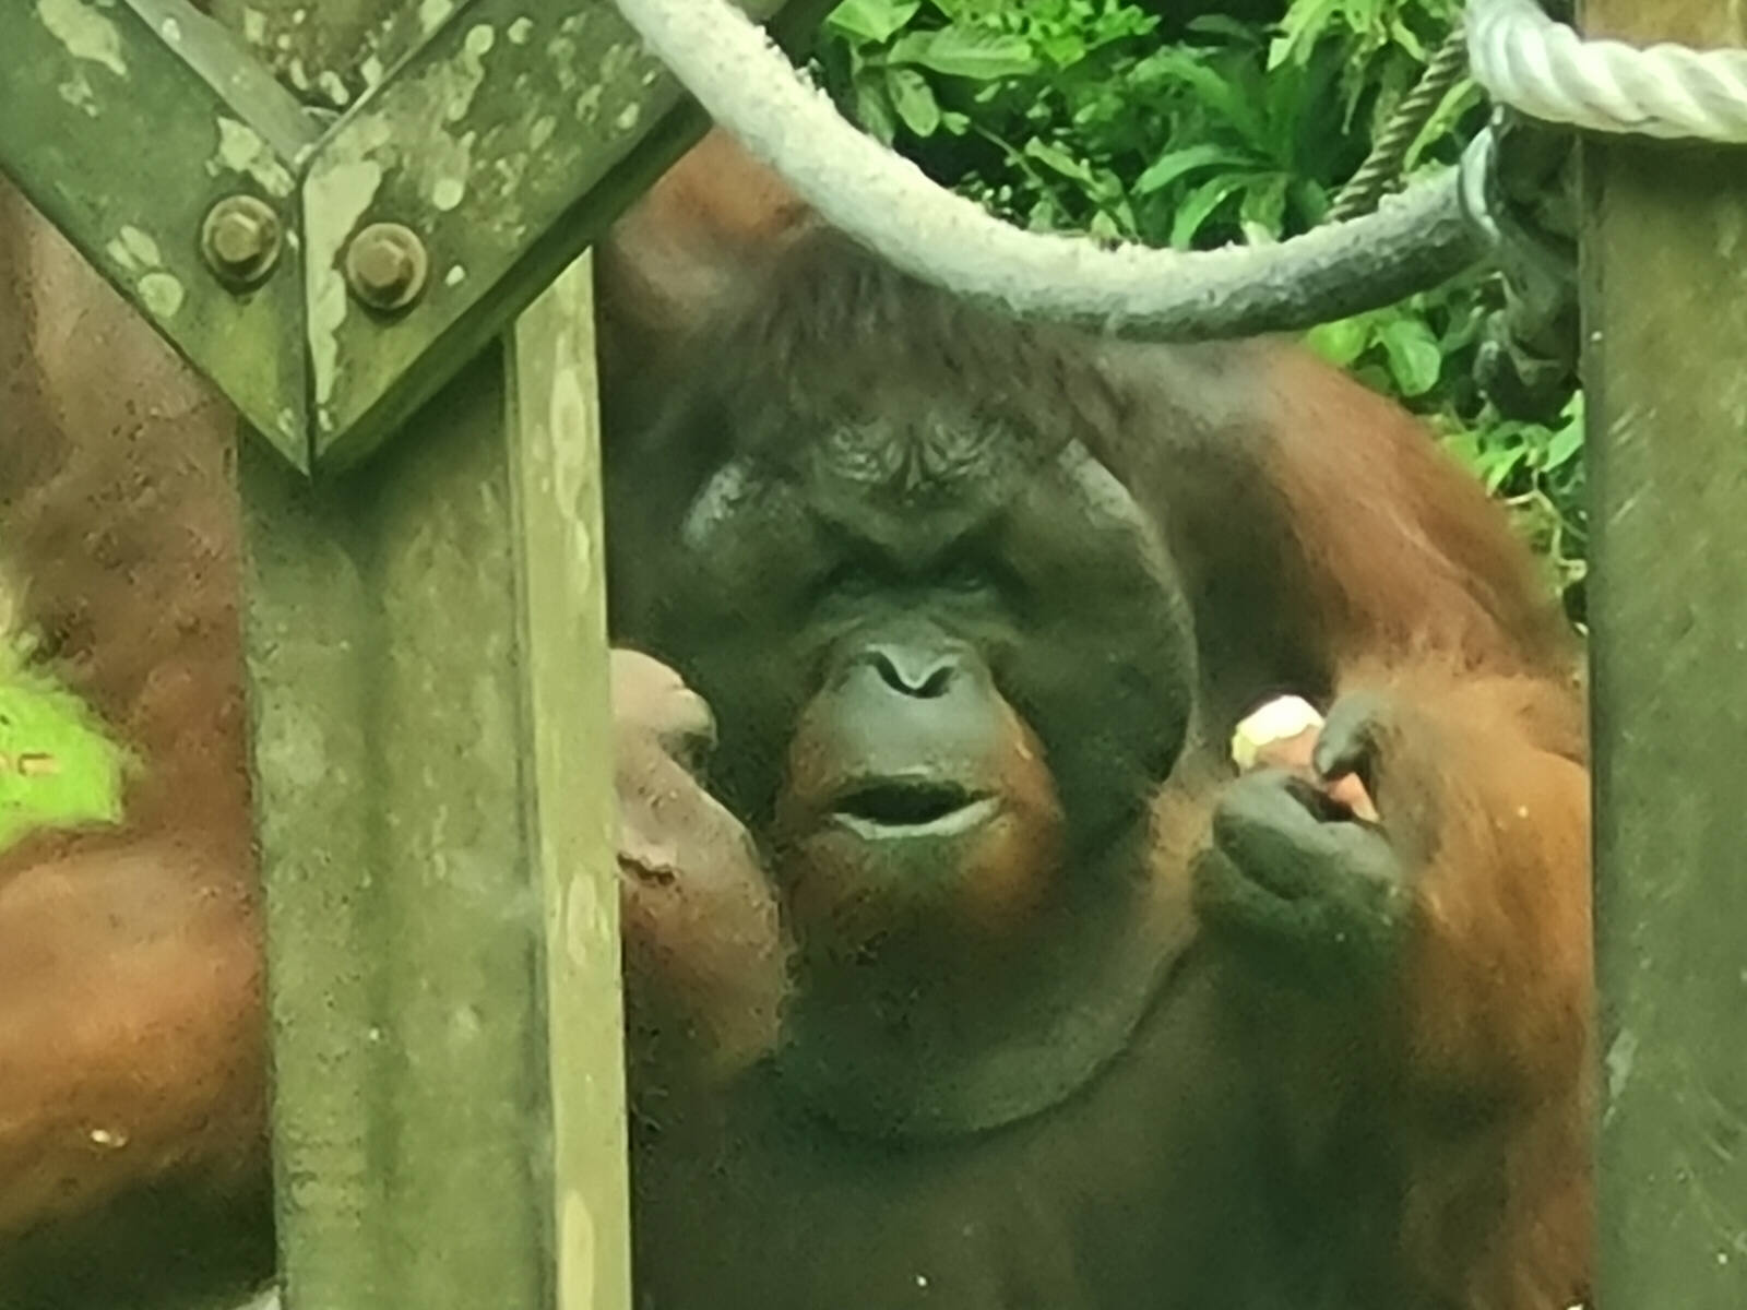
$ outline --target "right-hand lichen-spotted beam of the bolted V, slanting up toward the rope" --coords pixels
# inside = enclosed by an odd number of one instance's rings
[[[475,0],[348,110],[302,190],[316,458],[353,463],[501,327],[512,269],[680,98],[611,0]],[[341,274],[346,243],[383,220],[430,253],[428,290],[398,318],[363,309]],[[599,224],[570,232],[575,255]],[[493,293],[498,313],[458,334]],[[437,351],[447,335],[459,348]]]

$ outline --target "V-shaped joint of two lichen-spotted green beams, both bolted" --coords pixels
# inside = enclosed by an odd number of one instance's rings
[[[370,454],[701,128],[611,0],[217,12],[0,5],[0,168],[304,470]],[[283,232],[246,290],[201,245],[239,194]],[[381,222],[426,264],[388,313],[346,274]]]

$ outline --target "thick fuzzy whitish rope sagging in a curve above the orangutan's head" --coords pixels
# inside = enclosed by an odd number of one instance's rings
[[[1363,271],[1364,252],[1375,262],[1375,252],[1412,250],[1415,231],[1427,234],[1427,248],[1436,246],[1427,267],[1441,260],[1419,285],[1452,276],[1478,253],[1474,238],[1460,231],[1450,176],[1413,187],[1364,218],[1263,246],[1190,253],[1025,232],[938,187],[846,122],[727,0],[617,3],[711,119],[769,162],[825,222],[922,281],[996,300],[1020,316],[1122,335],[1256,332],[1286,327],[1298,311],[1300,271],[1310,271],[1319,286],[1338,286]],[[1380,278],[1378,297],[1413,290],[1399,281],[1389,286]],[[1361,307],[1373,306],[1340,306],[1328,316]]]

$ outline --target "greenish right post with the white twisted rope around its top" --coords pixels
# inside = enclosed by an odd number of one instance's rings
[[[1738,3],[1588,0],[1588,35],[1747,44]],[[1747,152],[1585,147],[1600,1275],[1747,1305]]]

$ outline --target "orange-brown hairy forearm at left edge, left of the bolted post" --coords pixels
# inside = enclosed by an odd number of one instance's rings
[[[229,884],[229,886],[227,886]],[[182,1172],[266,1163],[255,908],[171,844],[0,886],[0,1240]]]

